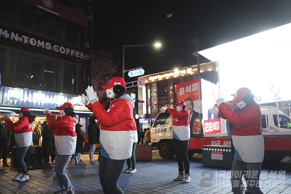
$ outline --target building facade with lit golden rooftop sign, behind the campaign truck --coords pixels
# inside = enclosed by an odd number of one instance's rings
[[[198,65],[192,65],[180,69],[160,72],[139,77],[145,80],[145,86],[139,88],[139,117],[142,128],[148,126],[145,118],[155,118],[160,108],[164,105],[174,107],[177,102],[178,83],[197,79]],[[200,77],[212,83],[218,82],[218,69],[216,63],[208,62],[200,64]]]

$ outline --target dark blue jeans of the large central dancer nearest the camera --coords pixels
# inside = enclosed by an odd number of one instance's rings
[[[126,159],[113,160],[100,156],[99,179],[105,194],[124,194],[118,185],[119,178],[125,166]]]

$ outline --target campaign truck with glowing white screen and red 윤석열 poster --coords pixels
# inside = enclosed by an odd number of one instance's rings
[[[291,156],[291,23],[223,45],[199,51],[219,69],[219,82],[203,79],[177,84],[177,101],[185,100],[190,110],[191,137],[188,155],[202,153],[202,146],[230,146],[226,120],[209,111],[219,98],[229,101],[241,87],[247,87],[260,105],[264,137],[264,164]],[[152,146],[163,159],[175,154],[169,113],[159,112],[151,128]]]

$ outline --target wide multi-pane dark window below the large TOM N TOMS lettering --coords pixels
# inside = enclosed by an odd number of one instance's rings
[[[16,85],[54,91],[54,65],[53,60],[19,52],[17,55]]]

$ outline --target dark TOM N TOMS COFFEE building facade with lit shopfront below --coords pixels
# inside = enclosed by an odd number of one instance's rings
[[[92,80],[93,0],[0,0],[1,111],[43,115],[71,102]],[[0,114],[2,115],[2,114]]]

